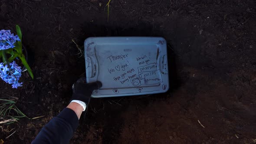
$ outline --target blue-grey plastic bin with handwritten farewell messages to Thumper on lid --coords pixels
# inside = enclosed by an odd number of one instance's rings
[[[169,89],[167,46],[162,37],[85,39],[87,82],[102,82],[94,98],[146,95]]]

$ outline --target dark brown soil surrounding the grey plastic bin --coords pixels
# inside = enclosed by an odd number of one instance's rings
[[[35,56],[35,79],[23,73],[17,90],[0,81],[0,98],[19,98],[30,118],[45,115],[2,125],[0,139],[30,143],[66,107],[85,72],[72,39],[82,48],[89,36],[163,36],[171,90],[93,98],[70,143],[256,142],[255,0],[112,0],[108,22],[106,3],[0,1],[0,28],[19,24]]]

